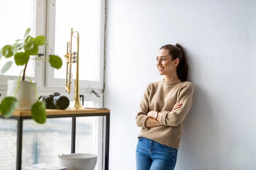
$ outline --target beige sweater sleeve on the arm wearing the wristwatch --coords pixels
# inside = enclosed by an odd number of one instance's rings
[[[179,91],[180,93],[177,97],[177,103],[182,103],[182,107],[176,109],[175,111],[163,111],[163,114],[160,118],[160,122],[163,125],[180,125],[193,105],[194,85],[191,82],[185,83],[181,86]]]

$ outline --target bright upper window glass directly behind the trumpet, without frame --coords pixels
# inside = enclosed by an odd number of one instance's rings
[[[79,32],[79,79],[99,80],[99,0],[56,0],[55,54],[63,57],[70,41],[71,28]],[[76,49],[76,39],[73,38]],[[72,65],[72,74],[76,64]],[[66,78],[66,65],[54,70],[54,78]],[[75,78],[75,76],[73,76]]]

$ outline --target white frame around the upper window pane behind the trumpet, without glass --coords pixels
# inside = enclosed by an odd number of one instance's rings
[[[54,54],[55,46],[55,11],[56,0],[47,0],[47,46],[46,56]],[[58,5],[58,4],[57,4]],[[95,89],[104,88],[104,44],[105,44],[105,0],[100,0],[100,33],[99,33],[99,81],[80,80],[80,88],[88,88],[91,85]],[[71,29],[71,28],[70,28]],[[81,67],[81,63],[79,65]],[[62,67],[66,67],[63,63]],[[95,68],[98,69],[98,68]],[[80,73],[81,74],[81,73]],[[45,85],[47,87],[60,88],[65,87],[65,79],[54,78],[54,69],[49,63],[46,63],[46,79]],[[74,88],[74,86],[73,86]]]

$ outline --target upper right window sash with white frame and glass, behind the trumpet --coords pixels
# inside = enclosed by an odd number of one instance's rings
[[[47,56],[62,57],[64,65],[56,70],[46,65],[46,86],[63,87],[66,78],[67,42],[71,28],[79,32],[79,80],[81,88],[103,89],[105,3],[102,0],[50,0],[47,7]],[[76,35],[75,35],[76,36]],[[76,51],[73,37],[72,50]],[[72,65],[73,78],[76,64]]]

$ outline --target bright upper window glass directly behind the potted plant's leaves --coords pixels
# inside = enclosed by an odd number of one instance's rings
[[[27,28],[31,28],[32,36],[35,33],[35,0],[1,0],[0,18],[4,26],[0,27],[0,48],[6,44],[14,44],[15,40],[22,39]],[[15,22],[14,22],[15,21]],[[4,75],[18,76],[24,66],[17,66],[14,63],[14,57],[6,59],[2,57],[0,69],[3,65],[13,60],[13,65]],[[28,63],[26,74],[34,77],[34,60]]]

